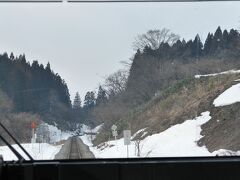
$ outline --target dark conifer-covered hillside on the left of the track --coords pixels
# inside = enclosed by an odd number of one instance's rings
[[[38,114],[49,124],[70,127],[73,118],[68,87],[49,63],[44,67],[38,61],[30,64],[24,55],[0,55],[0,88],[12,102],[12,111]]]

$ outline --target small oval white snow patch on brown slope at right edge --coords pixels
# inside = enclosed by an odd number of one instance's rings
[[[224,91],[221,95],[219,95],[213,101],[213,105],[215,107],[219,107],[234,104],[236,102],[240,102],[240,83],[233,85]]]

